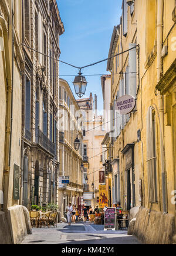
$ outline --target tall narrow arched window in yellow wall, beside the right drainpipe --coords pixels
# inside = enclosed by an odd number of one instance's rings
[[[148,199],[151,203],[157,202],[157,166],[155,140],[155,111],[153,107],[149,107],[147,113],[147,175]]]

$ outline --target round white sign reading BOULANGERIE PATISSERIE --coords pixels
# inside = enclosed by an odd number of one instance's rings
[[[129,114],[131,111],[133,111],[135,106],[136,100],[131,95],[121,96],[116,101],[116,110],[119,110],[120,114]]]

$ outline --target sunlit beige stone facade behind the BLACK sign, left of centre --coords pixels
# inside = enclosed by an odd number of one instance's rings
[[[59,84],[59,211],[65,216],[69,202],[81,209],[83,186],[80,165],[83,161],[83,118],[79,105],[67,81]],[[75,150],[74,141],[79,135],[80,149]],[[69,176],[69,184],[62,185],[62,176]]]

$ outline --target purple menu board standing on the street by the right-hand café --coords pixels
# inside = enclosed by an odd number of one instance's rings
[[[116,208],[106,208],[104,211],[104,230],[116,228]]]

